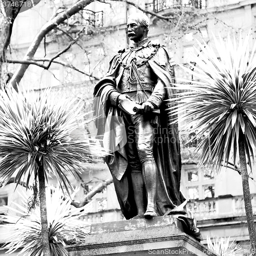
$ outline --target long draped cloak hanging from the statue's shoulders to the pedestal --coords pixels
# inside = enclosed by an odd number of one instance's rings
[[[175,97],[173,68],[169,63],[167,50],[166,61],[159,61],[155,54],[147,60],[152,71],[165,86],[165,98],[159,107],[159,125],[156,126],[156,138],[154,140],[154,158],[158,167],[157,174],[157,210],[160,216],[173,215],[179,219],[184,231],[197,240],[201,240],[201,234],[196,227],[196,221],[190,211],[186,209],[186,199],[180,191],[181,178],[181,154],[178,134],[178,124],[173,123],[167,109],[173,106],[173,101],[168,99]],[[119,91],[119,83],[124,67],[120,65],[121,57],[127,56],[131,50],[126,50],[116,55],[111,63],[109,72],[95,86],[94,89],[94,115],[97,127],[97,137],[102,140],[102,146],[111,154],[106,158],[113,176],[113,182],[123,216],[131,219],[137,215],[134,200],[134,191],[131,180],[131,170],[126,157],[126,132],[122,119],[122,111],[110,103],[110,94]],[[146,205],[146,202],[145,202]]]

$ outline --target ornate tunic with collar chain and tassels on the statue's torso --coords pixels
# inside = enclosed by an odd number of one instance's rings
[[[117,77],[120,80],[117,84],[117,91],[111,93],[110,100],[113,105],[117,104],[117,97],[120,94],[134,96],[137,103],[151,102],[157,109],[162,103],[165,95],[164,84],[153,72],[148,64],[151,58],[157,58],[161,66],[166,67],[168,56],[159,45],[151,44],[148,39],[131,47],[129,50],[120,51],[114,58],[114,62],[120,65]]]

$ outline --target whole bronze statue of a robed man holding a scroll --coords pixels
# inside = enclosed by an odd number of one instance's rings
[[[165,47],[148,40],[149,26],[146,15],[129,16],[127,35],[134,45],[118,52],[108,73],[96,84],[98,136],[112,153],[106,163],[126,219],[172,214],[183,219],[193,230],[190,233],[200,236],[180,193],[178,126],[170,124],[166,111],[172,103],[165,100],[175,93],[170,88],[173,63]]]

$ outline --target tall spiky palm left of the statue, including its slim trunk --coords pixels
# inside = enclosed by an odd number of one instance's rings
[[[67,174],[74,175],[91,156],[102,155],[100,147],[82,136],[81,102],[58,99],[51,90],[40,95],[0,91],[1,181],[5,184],[15,176],[17,184],[24,179],[28,185],[38,179],[44,256],[50,256],[45,196],[48,176],[56,176],[61,188],[69,191]]]

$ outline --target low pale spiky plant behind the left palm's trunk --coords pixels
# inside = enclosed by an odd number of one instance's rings
[[[63,245],[67,243],[83,243],[86,241],[86,236],[90,232],[90,226],[79,220],[79,217],[88,212],[90,204],[81,208],[72,208],[71,202],[75,193],[71,197],[63,197],[60,189],[46,190],[47,197],[47,215],[48,215],[48,238],[50,243],[50,252],[52,256],[67,256],[68,252]],[[32,194],[32,191],[31,193]],[[28,193],[22,196],[23,204],[29,199]],[[40,256],[42,255],[41,243],[41,220],[40,210],[36,209],[28,212],[28,209],[23,205],[15,204],[15,208],[8,207],[19,216],[6,215],[2,221],[6,224],[10,231],[6,234],[10,242],[6,243],[4,248],[8,249],[7,253],[12,253],[19,248],[23,248],[18,254],[24,256]],[[81,213],[82,210],[82,213]],[[21,217],[20,217],[21,216]]]

